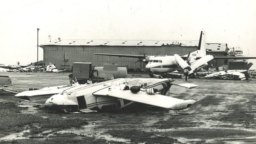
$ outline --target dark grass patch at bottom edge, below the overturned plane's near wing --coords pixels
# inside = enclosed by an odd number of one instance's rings
[[[108,133],[113,137],[130,139],[133,143],[146,144],[173,144],[179,143],[177,139],[170,137],[157,136],[154,132],[144,132],[136,129],[109,130]]]

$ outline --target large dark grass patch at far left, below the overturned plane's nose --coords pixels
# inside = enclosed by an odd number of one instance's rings
[[[48,118],[42,118],[40,114],[20,113],[26,107],[17,107],[13,102],[0,103],[0,135],[9,135],[9,133],[23,131],[25,126],[31,129],[26,135],[40,134],[48,129],[67,129],[71,127],[80,127],[88,124],[84,119],[67,116],[64,114],[47,114]],[[37,124],[36,126],[33,124]],[[40,127],[40,129],[38,129]]]

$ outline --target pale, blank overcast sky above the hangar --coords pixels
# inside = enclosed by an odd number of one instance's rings
[[[0,5],[0,64],[37,61],[58,39],[198,40],[256,57],[254,0],[8,0]],[[39,60],[43,49],[39,47]],[[251,69],[256,69],[256,60]]]

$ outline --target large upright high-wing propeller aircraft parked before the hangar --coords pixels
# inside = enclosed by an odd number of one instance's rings
[[[205,32],[201,31],[198,49],[195,52],[191,52],[187,55],[124,55],[124,54],[95,54],[95,55],[107,55],[117,57],[134,57],[147,63],[146,70],[152,74],[162,74],[167,72],[173,72],[175,70],[182,70],[185,72],[186,77],[190,74],[194,74],[197,70],[208,65],[208,61],[212,59],[256,59],[256,57],[214,57],[214,55],[206,55],[205,49]]]

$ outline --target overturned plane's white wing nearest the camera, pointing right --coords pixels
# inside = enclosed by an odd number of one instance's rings
[[[104,89],[98,90],[93,93],[96,96],[112,96],[115,98],[121,98],[130,100],[133,102],[145,103],[157,107],[163,107],[174,111],[186,109],[194,104],[194,100],[181,100],[178,98],[172,98],[160,94],[147,94],[147,92],[139,91],[132,93],[130,90],[122,90],[119,85],[112,85]]]

